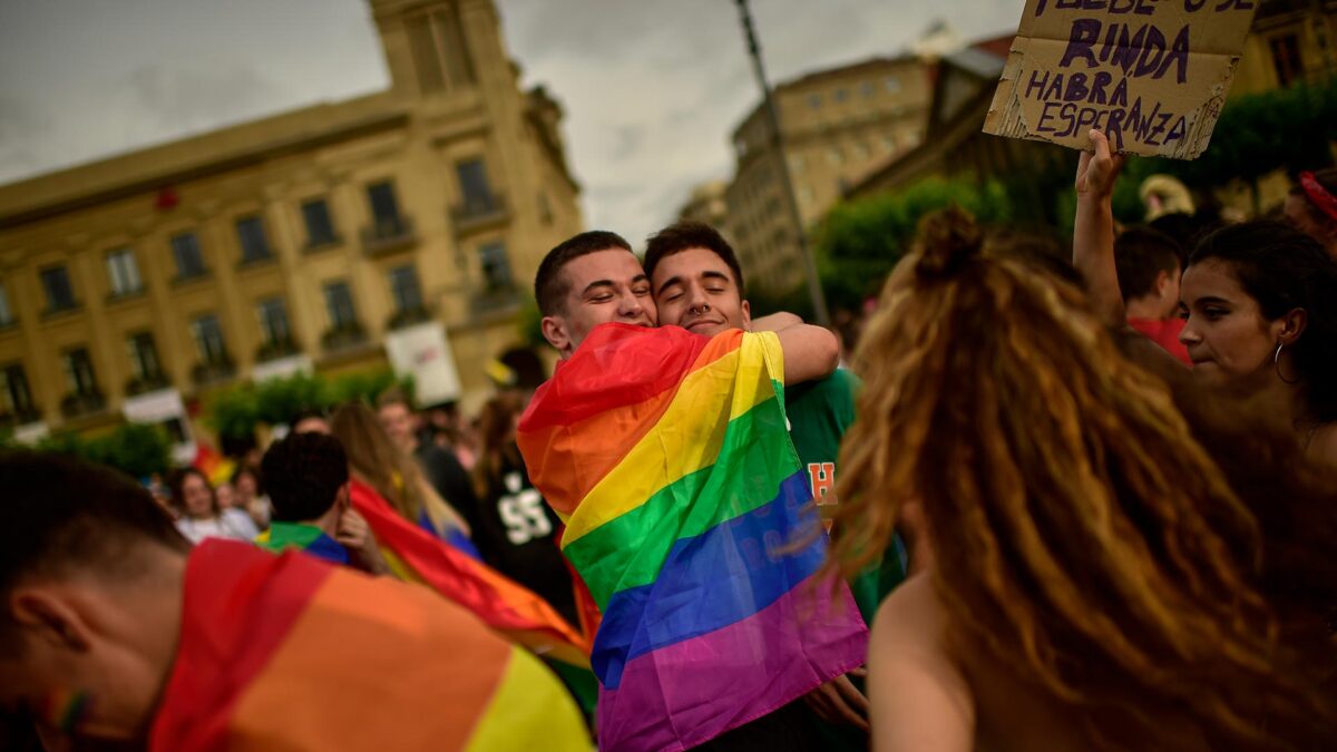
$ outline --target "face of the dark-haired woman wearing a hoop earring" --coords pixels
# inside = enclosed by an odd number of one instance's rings
[[[1207,260],[1189,266],[1181,294],[1187,321],[1179,341],[1195,376],[1230,384],[1270,372],[1284,320],[1263,317],[1229,264]]]

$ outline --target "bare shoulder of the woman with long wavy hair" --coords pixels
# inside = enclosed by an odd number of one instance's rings
[[[944,614],[931,577],[906,579],[873,620],[868,673],[878,752],[975,747],[975,702],[944,649]]]

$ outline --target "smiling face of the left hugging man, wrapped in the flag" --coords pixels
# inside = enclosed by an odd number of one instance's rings
[[[570,357],[599,324],[654,326],[650,280],[630,250],[612,248],[578,256],[560,272],[567,290],[560,313],[543,318],[543,336]]]

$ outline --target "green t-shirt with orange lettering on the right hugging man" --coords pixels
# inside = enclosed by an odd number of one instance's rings
[[[785,388],[789,436],[808,471],[818,504],[826,494],[834,494],[836,459],[845,431],[854,423],[854,393],[858,388],[858,379],[844,368],[821,381]],[[881,565],[868,567],[850,581],[850,593],[865,622],[873,622],[878,603],[904,579],[900,553],[893,546],[886,550]]]

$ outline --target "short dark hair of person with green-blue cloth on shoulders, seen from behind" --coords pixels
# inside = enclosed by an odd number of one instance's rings
[[[322,516],[348,483],[344,444],[328,434],[290,434],[270,444],[261,467],[277,522]]]

